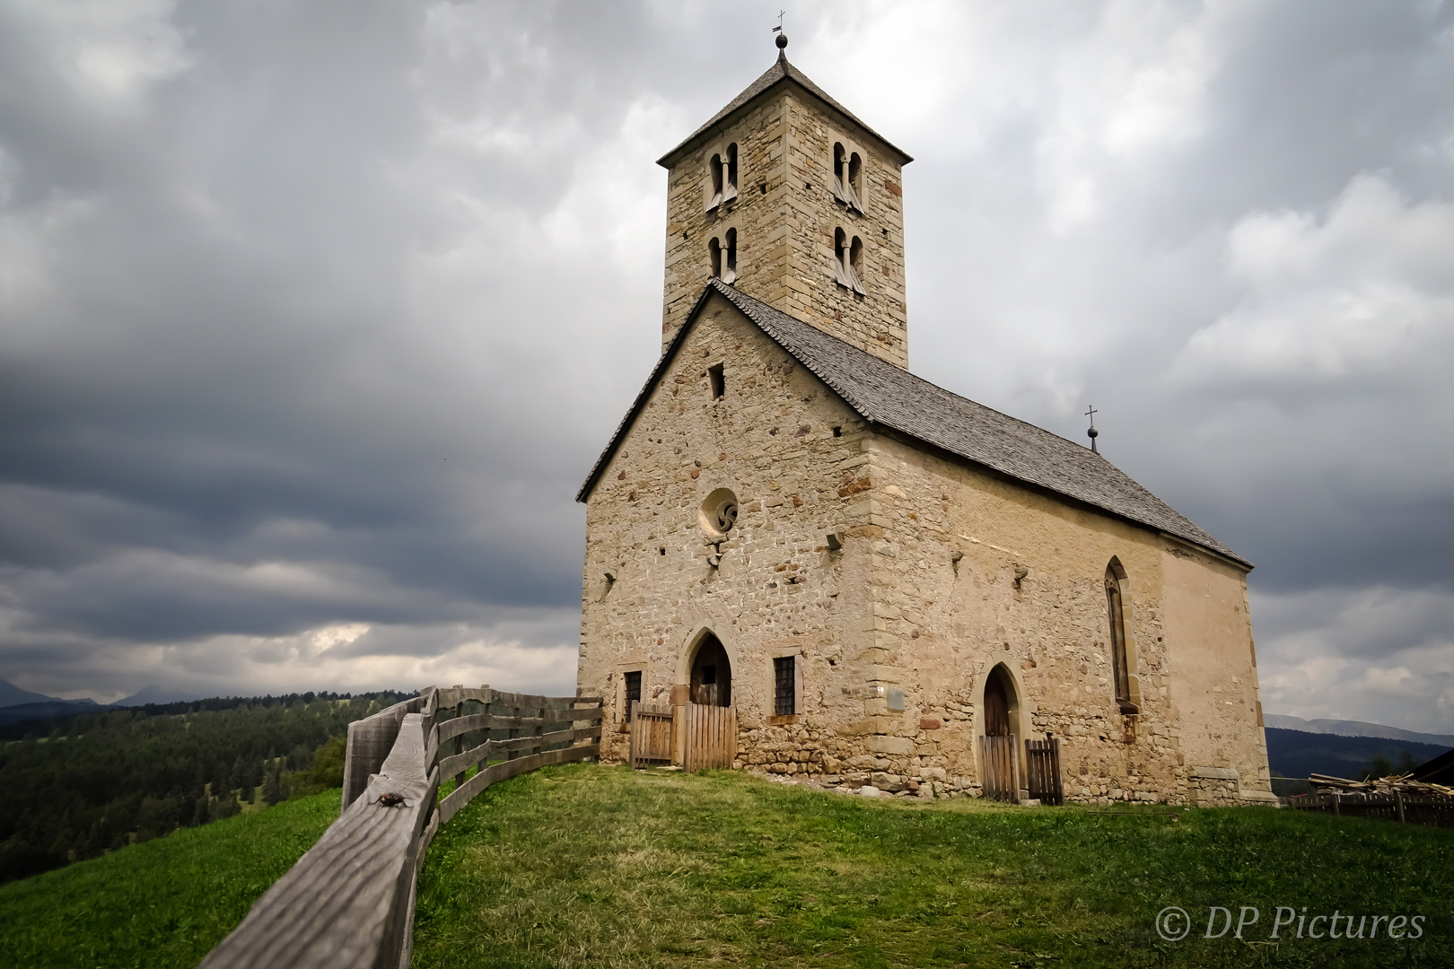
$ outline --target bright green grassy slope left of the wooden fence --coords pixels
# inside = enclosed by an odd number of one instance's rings
[[[339,792],[0,885],[0,966],[195,966],[339,816]]]

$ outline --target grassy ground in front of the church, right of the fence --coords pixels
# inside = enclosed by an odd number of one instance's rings
[[[567,766],[441,830],[414,966],[1454,965],[1454,832],[1271,809],[869,800]],[[1418,943],[1168,944],[1166,905],[1423,914]],[[1202,923],[1204,925],[1204,923]],[[1255,938],[1265,940],[1262,931]]]

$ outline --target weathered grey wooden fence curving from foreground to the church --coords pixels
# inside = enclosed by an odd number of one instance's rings
[[[414,880],[439,825],[497,780],[599,757],[601,721],[601,697],[457,686],[350,723],[343,814],[202,968],[407,969]]]

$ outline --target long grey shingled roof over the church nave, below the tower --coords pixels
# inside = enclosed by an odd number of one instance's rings
[[[1252,568],[1252,562],[1202,532],[1089,447],[952,394],[801,320],[794,320],[720,279],[707,285],[686,323],[678,328],[676,337],[657,360],[646,386],[641,388],[631,410],[611,436],[611,443],[596,459],[590,475],[576,494],[577,501],[586,500],[605,472],[627,429],[646,407],[651,388],[676,357],[688,330],[714,292],[737,307],[774,343],[792,354],[875,429],[897,431],[1015,481],[1175,535]]]

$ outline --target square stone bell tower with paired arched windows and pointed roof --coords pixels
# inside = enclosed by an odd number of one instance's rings
[[[667,170],[662,349],[714,276],[907,369],[900,148],[778,60]]]

